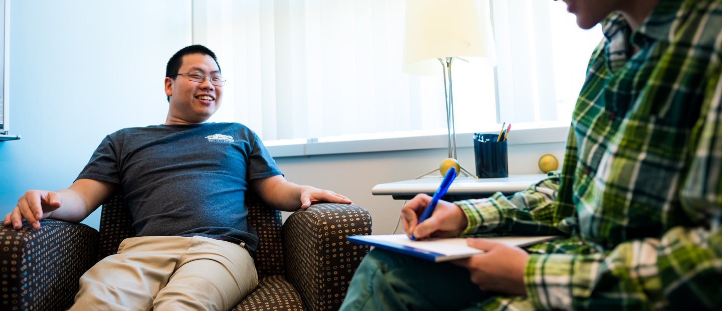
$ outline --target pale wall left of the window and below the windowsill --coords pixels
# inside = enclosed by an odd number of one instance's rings
[[[22,139],[0,142],[2,215],[25,190],[69,186],[108,133],[163,123],[165,64],[191,44],[190,0],[15,0],[11,14],[12,134]],[[511,145],[510,172],[539,172],[541,154],[561,159],[562,151],[563,143]],[[458,154],[474,172],[472,149]],[[403,201],[371,188],[414,178],[445,157],[445,149],[422,149],[277,162],[288,180],[349,196],[371,212],[375,234],[388,234]],[[97,228],[99,217],[84,223]]]

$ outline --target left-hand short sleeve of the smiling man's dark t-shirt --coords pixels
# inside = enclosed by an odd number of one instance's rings
[[[76,180],[87,178],[119,184],[119,175],[116,146],[110,136],[105,136]]]

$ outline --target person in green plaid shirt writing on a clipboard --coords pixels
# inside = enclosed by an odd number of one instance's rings
[[[402,209],[407,235],[562,235],[456,265],[373,250],[342,310],[722,310],[722,0],[565,0],[601,22],[561,172]]]

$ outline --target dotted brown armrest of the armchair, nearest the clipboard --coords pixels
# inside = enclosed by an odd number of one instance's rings
[[[286,278],[308,310],[338,310],[369,247],[346,240],[370,235],[371,215],[360,206],[321,203],[291,214],[283,226]]]

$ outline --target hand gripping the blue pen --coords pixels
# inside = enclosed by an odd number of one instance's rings
[[[429,205],[431,197],[419,193],[401,208],[401,223],[406,235],[417,240],[427,237],[456,237],[466,229],[466,215],[461,208],[447,201],[439,200],[434,213],[418,224],[419,217]]]

